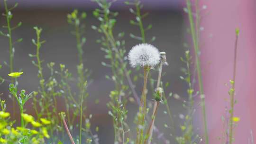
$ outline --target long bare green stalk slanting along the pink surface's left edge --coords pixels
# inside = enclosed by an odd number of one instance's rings
[[[186,0],[186,1],[187,1],[187,9],[188,9],[188,15],[189,15],[191,35],[192,35],[193,46],[194,46],[194,53],[195,53],[195,58],[196,58],[198,84],[199,84],[199,90],[200,90],[200,95],[201,95],[201,108],[202,108],[202,116],[203,116],[203,123],[204,123],[204,137],[205,137],[205,143],[209,144],[209,137],[208,137],[208,130],[207,130],[207,120],[206,120],[206,112],[205,112],[205,98],[204,98],[203,85],[202,85],[202,80],[201,80],[200,59],[199,59],[199,56],[198,56],[198,54],[199,54],[199,45],[198,45],[198,40],[197,40],[197,36],[196,36],[196,32],[195,32],[191,2],[190,2],[190,0]]]

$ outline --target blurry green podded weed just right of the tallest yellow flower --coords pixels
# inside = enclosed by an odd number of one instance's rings
[[[54,131],[61,131],[59,126],[58,112],[57,112],[57,96],[61,96],[61,92],[57,91],[58,82],[55,79],[55,71],[54,65],[55,63],[51,62],[47,64],[47,67],[50,70],[51,76],[46,81],[43,73],[43,66],[40,58],[40,49],[42,45],[46,42],[41,40],[42,28],[34,27],[34,30],[37,34],[37,39],[32,39],[32,43],[36,46],[36,54],[29,54],[30,57],[35,57],[36,61],[32,61],[32,63],[37,67],[38,74],[37,77],[39,79],[39,87],[38,91],[34,92],[33,105],[37,114],[37,118],[45,116],[48,119],[51,119],[51,125],[48,126],[50,130],[50,135],[52,141],[55,141],[57,137],[54,136]],[[37,95],[39,93],[39,98]],[[39,106],[39,109],[38,109]],[[51,111],[52,109],[52,111]]]

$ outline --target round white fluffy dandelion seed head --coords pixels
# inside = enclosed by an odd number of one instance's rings
[[[158,49],[150,44],[139,44],[132,47],[128,54],[131,67],[149,66],[154,67],[160,62]]]

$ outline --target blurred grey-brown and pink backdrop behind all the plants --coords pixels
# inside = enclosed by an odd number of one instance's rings
[[[192,0],[193,1],[193,0]],[[233,49],[235,41],[235,28],[241,29],[241,40],[239,39],[238,50],[238,105],[235,108],[235,115],[241,117],[241,121],[236,128],[236,141],[234,144],[246,144],[250,138],[250,131],[256,130],[256,81],[255,81],[255,60],[256,60],[256,2],[254,0],[199,0],[202,10],[201,19],[201,58],[203,82],[205,84],[207,118],[209,120],[210,144],[219,143],[218,136],[221,136],[221,116],[225,115],[225,107],[229,98],[229,88],[225,86],[232,77]],[[85,19],[87,38],[84,50],[84,65],[90,69],[92,83],[88,87],[89,98],[86,102],[86,112],[92,114],[92,127],[99,126],[100,144],[113,144],[112,118],[108,114],[106,102],[109,101],[110,90],[114,89],[113,83],[106,80],[105,75],[110,75],[111,70],[101,65],[106,62],[101,45],[95,41],[100,35],[91,29],[91,25],[98,25],[99,21],[92,16],[92,11],[98,8],[97,4],[91,0],[8,0],[11,7],[18,2],[18,8],[13,10],[14,18],[12,24],[22,21],[22,27],[13,31],[14,39],[23,38],[21,43],[15,45],[14,67],[15,71],[22,69],[24,74],[19,78],[19,87],[27,91],[37,90],[37,68],[31,63],[32,58],[28,54],[34,54],[36,47],[31,39],[36,38],[34,26],[42,27],[41,38],[46,40],[42,46],[41,57],[44,59],[44,72],[49,74],[46,63],[64,63],[66,67],[76,76],[76,65],[78,63],[75,37],[71,35],[73,27],[67,23],[67,14],[73,9],[85,11],[88,17]],[[143,12],[149,12],[144,24],[152,24],[152,30],[146,32],[146,39],[152,36],[156,39],[152,43],[160,51],[165,51],[167,55],[168,67],[164,67],[164,82],[169,82],[170,87],[166,93],[174,93],[181,99],[169,99],[168,103],[175,117],[175,123],[179,127],[179,115],[185,115],[182,107],[183,99],[187,99],[187,85],[180,80],[183,75],[181,68],[185,65],[180,61],[185,50],[190,47],[184,46],[189,43],[187,33],[187,15],[183,11],[185,0],[142,0]],[[205,7],[206,6],[206,7]],[[0,2],[0,10],[3,12],[3,2]],[[124,4],[124,0],[117,0],[113,6],[113,11],[118,11],[115,32],[125,32],[127,51],[138,41],[129,37],[130,33],[139,35],[138,27],[129,24],[134,15],[129,12],[129,6]],[[205,8],[205,9],[203,9]],[[0,25],[5,25],[4,17],[0,18]],[[1,28],[2,29],[2,28]],[[8,62],[8,39],[0,37],[0,63]],[[0,75],[9,79],[7,66],[3,65]],[[49,76],[49,75],[48,75]],[[156,73],[153,73],[156,77]],[[46,75],[47,77],[47,75]],[[137,92],[140,93],[143,83],[137,83]],[[2,99],[8,99],[8,110],[11,110],[12,102],[8,98],[9,81],[0,85]],[[95,100],[99,99],[99,104]],[[197,98],[196,98],[197,99]],[[148,96],[148,100],[151,98]],[[30,102],[28,102],[30,103]],[[58,102],[58,111],[64,110],[62,102]],[[26,113],[33,114],[30,104],[26,105]],[[201,134],[202,120],[200,107],[195,114],[195,133]],[[132,126],[133,118],[137,112],[137,105],[128,105],[128,123]],[[170,130],[164,124],[170,123],[168,116],[164,113],[165,106],[161,105],[156,118],[156,126],[161,133],[173,144],[174,137],[170,135]],[[17,115],[18,117],[18,115]],[[132,127],[131,126],[131,127]],[[256,132],[255,132],[256,133]],[[178,133],[179,134],[179,133]],[[255,135],[255,134],[253,134]],[[256,137],[256,135],[255,135]],[[68,144],[68,142],[67,142]],[[162,142],[156,143],[162,144]]]

